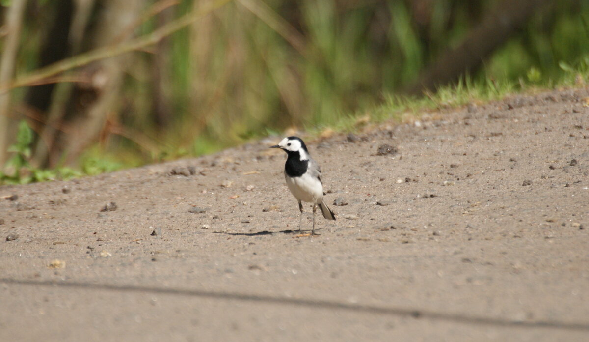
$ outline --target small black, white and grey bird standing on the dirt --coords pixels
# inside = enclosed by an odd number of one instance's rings
[[[321,182],[321,170],[317,162],[309,154],[309,150],[302,139],[290,136],[271,149],[282,149],[287,154],[286,163],[284,163],[284,179],[289,187],[290,193],[299,202],[300,226],[303,221],[303,204],[301,202],[310,202],[313,204],[313,229],[310,235],[315,235],[315,212],[317,207],[323,213],[323,217],[328,220],[335,220],[335,214],[329,209],[323,200],[323,183]]]

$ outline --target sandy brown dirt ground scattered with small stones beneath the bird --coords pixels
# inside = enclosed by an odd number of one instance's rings
[[[2,186],[0,341],[588,341],[588,97]]]

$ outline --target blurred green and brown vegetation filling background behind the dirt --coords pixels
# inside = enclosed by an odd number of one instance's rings
[[[0,150],[0,184],[197,156],[287,127],[353,130],[589,77],[587,0],[1,4],[0,146],[11,148]]]

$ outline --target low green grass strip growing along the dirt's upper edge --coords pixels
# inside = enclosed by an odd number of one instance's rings
[[[376,124],[385,121],[395,124],[406,120],[417,120],[425,113],[461,107],[470,103],[484,104],[512,94],[537,93],[555,88],[579,87],[589,83],[589,57],[585,57],[575,66],[562,63],[561,70],[562,73],[558,80],[544,81],[543,85],[538,85],[538,71],[531,69],[525,77],[527,81],[520,80],[518,83],[508,81],[507,78],[495,81],[492,78],[474,80],[471,77],[465,77],[456,85],[439,88],[435,93],[428,93],[426,96],[409,97],[387,94],[381,104],[353,113],[337,113],[332,120],[323,123],[307,124],[304,126],[305,135],[315,138],[322,136],[327,131],[330,133],[357,132],[366,126],[373,128]],[[280,130],[267,127],[264,130],[252,131],[243,136],[241,142],[265,136],[281,136],[282,134]],[[32,131],[26,121],[21,121],[17,141],[10,149],[14,155],[4,166],[5,172],[9,171],[8,173],[0,172],[0,185],[71,179],[84,175],[92,176],[145,163],[144,158],[138,158],[131,150],[123,149],[120,153],[110,153],[103,147],[94,146],[81,157],[81,166],[78,170],[61,166],[51,170],[38,169],[31,165],[31,144]],[[157,156],[151,156],[148,162],[200,156],[231,146],[226,142],[214,141],[206,136],[201,136],[193,140],[190,149],[184,149],[174,144],[165,146]]]

